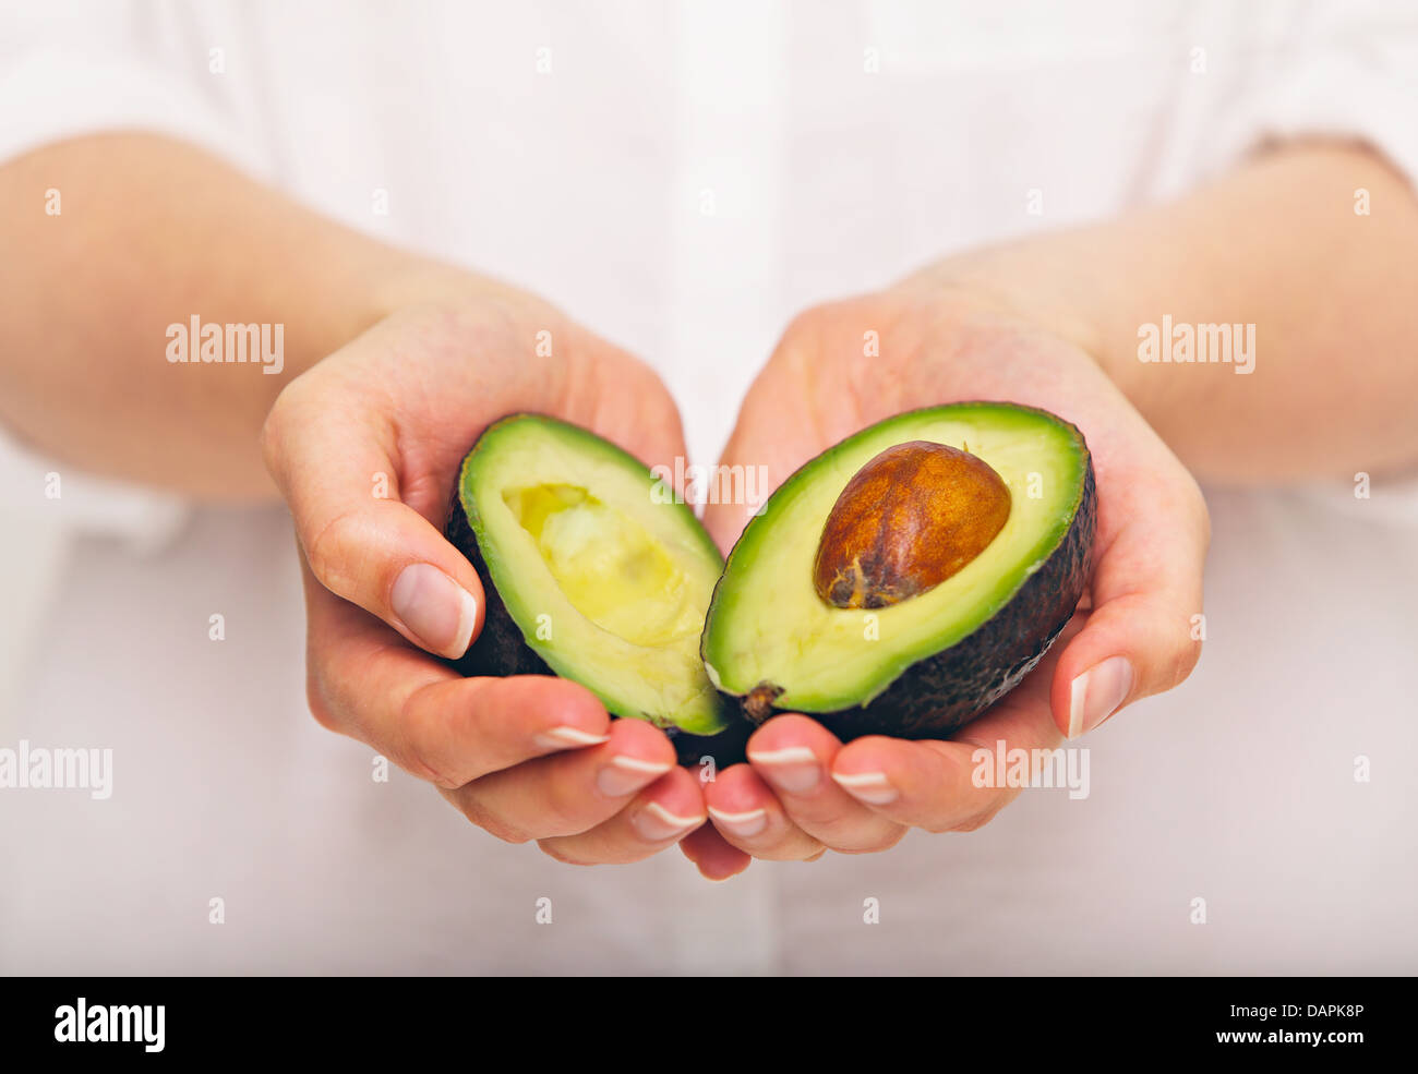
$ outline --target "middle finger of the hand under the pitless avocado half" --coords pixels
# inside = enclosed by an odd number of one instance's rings
[[[642,720],[617,720],[601,745],[505,768],[467,786],[444,791],[444,795],[469,820],[499,839],[552,839],[580,835],[604,823],[674,768],[675,748],[664,731]],[[676,816],[699,818],[703,806],[698,789],[693,799],[691,813]],[[645,823],[651,825],[655,818],[651,810]],[[666,818],[658,819],[668,823]],[[699,823],[695,819],[693,826]],[[678,835],[689,830],[683,826]],[[668,840],[665,836],[664,842]]]

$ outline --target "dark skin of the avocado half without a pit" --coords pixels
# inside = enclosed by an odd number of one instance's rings
[[[454,489],[452,503],[448,506],[448,520],[444,524],[444,536],[452,546],[468,557],[468,563],[478,572],[482,582],[484,618],[482,633],[472,643],[467,653],[450,663],[465,676],[509,676],[509,674],[552,674],[550,665],[536,655],[536,650],[526,643],[522,628],[518,626],[508,606],[498,595],[498,587],[492,584],[488,564],[478,548],[478,537],[472,531],[468,514],[462,507],[462,497]],[[733,707],[739,711],[739,707]],[[679,764],[700,768],[705,757],[713,757],[715,768],[722,769],[747,759],[744,747],[753,733],[753,724],[747,720],[733,720],[733,723],[716,735],[693,735],[678,728],[662,728],[675,744]]]

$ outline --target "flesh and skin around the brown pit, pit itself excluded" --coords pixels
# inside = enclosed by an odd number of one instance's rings
[[[839,608],[814,557],[859,470],[915,441],[966,451],[1008,487],[1003,528],[973,560],[899,604]],[[1044,411],[967,402],[900,414],[784,482],[729,555],[705,625],[709,677],[754,721],[827,714],[845,735],[940,737],[1034,667],[1073,612],[1095,530],[1082,434]]]

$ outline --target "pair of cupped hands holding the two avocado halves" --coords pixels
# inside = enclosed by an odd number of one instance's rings
[[[963,400],[1044,407],[1088,438],[1098,537],[1073,621],[950,741],[844,744],[783,714],[749,740],[747,764],[706,779],[676,765],[661,730],[613,720],[577,683],[464,679],[435,659],[461,656],[482,626],[478,575],[442,537],[476,435],[536,411],[674,472],[685,443],[665,385],[502,285],[469,281],[465,293],[408,303],[288,384],[265,424],[267,466],[303,554],[311,710],[479,827],[560,861],[628,863],[678,843],[722,880],[753,857],[881,852],[910,827],[977,829],[1018,793],[976,786],[977,748],[1058,747],[1190,673],[1208,541],[1191,475],[1085,340],[930,273],[800,315],[749,388],[723,463],[767,466],[776,486],[865,425]],[[752,510],[706,509],[725,553]]]

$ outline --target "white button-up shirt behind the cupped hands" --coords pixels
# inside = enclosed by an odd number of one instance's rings
[[[512,7],[10,11],[0,159],[96,129],[197,142],[630,347],[705,462],[814,302],[1176,194],[1268,137],[1366,137],[1418,176],[1401,6]],[[3,466],[0,747],[115,757],[106,801],[0,791],[3,971],[1418,968],[1411,487],[1208,490],[1202,662],[1086,741],[1089,798],[712,886],[678,852],[560,866],[376,782],[305,711],[281,511],[79,475],[45,500],[52,463]]]

